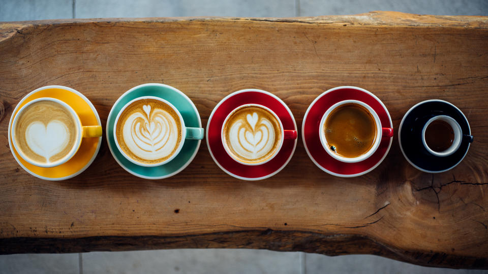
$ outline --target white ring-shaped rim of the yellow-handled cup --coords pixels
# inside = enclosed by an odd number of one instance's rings
[[[39,101],[52,101],[52,102],[55,102],[61,106],[63,106],[65,109],[67,109],[71,116],[73,117],[75,123],[76,123],[76,141],[75,141],[75,144],[73,145],[73,147],[71,148],[70,152],[63,158],[57,160],[57,161],[54,161],[54,162],[49,162],[49,163],[40,163],[40,162],[36,162],[30,158],[28,158],[24,152],[22,151],[22,149],[19,148],[17,142],[16,142],[16,138],[15,138],[15,127],[17,125],[17,121],[18,121],[18,118],[21,116],[20,114],[22,114],[22,112],[28,107],[28,106],[31,106],[32,104],[36,103],[36,102],[39,102]],[[11,130],[11,134],[12,134],[12,144],[15,148],[15,150],[17,151],[17,153],[20,155],[20,157],[22,159],[24,159],[26,162],[30,163],[30,164],[33,164],[33,165],[36,165],[36,166],[39,166],[39,167],[54,167],[54,166],[58,166],[58,165],[61,165],[61,164],[64,164],[66,163],[67,161],[69,161],[75,154],[76,152],[78,151],[78,148],[80,147],[80,144],[81,144],[81,139],[82,139],[82,128],[81,128],[81,121],[80,121],[80,118],[78,117],[78,114],[73,110],[72,107],[70,107],[68,104],[66,104],[64,101],[62,100],[59,100],[59,99],[56,99],[56,98],[50,98],[50,97],[43,97],[43,98],[37,98],[35,100],[32,100],[30,102],[28,102],[27,104],[25,104],[24,106],[22,106],[17,114],[15,115],[15,118],[14,120],[12,121],[12,130]]]

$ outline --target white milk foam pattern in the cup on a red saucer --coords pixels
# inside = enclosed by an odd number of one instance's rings
[[[267,156],[273,150],[275,135],[271,121],[254,112],[230,125],[229,143],[237,156],[252,161]]]

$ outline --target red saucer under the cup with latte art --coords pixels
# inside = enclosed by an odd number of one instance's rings
[[[275,158],[261,165],[245,165],[232,159],[224,149],[221,129],[227,115],[244,104],[259,104],[271,109],[280,117],[284,130],[297,130],[290,109],[276,95],[258,89],[245,89],[227,95],[210,114],[207,123],[207,146],[217,165],[230,176],[242,180],[261,180],[271,177],[290,161],[295,151],[297,139],[283,141],[283,146]]]

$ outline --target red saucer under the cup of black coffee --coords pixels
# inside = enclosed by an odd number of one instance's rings
[[[303,145],[310,159],[324,172],[339,177],[356,177],[367,174],[377,167],[390,150],[392,137],[382,136],[376,152],[357,163],[345,163],[332,158],[324,149],[319,137],[319,124],[325,111],[335,103],[354,99],[368,104],[378,114],[382,127],[393,127],[390,114],[383,102],[373,93],[358,87],[343,86],[329,89],[319,95],[303,117],[301,128]]]

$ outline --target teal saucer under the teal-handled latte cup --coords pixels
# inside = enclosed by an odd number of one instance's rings
[[[183,117],[183,120],[185,121],[185,126],[187,127],[202,127],[200,114],[187,95],[174,87],[164,84],[142,84],[131,88],[118,98],[113,105],[112,110],[110,110],[105,132],[107,134],[108,147],[117,163],[126,169],[130,174],[140,178],[163,179],[171,177],[187,167],[193,158],[195,158],[198,148],[200,147],[201,140],[186,139],[181,151],[175,158],[166,164],[154,167],[139,166],[132,163],[120,153],[115,145],[115,140],[113,138],[113,125],[115,123],[117,113],[129,101],[141,96],[156,96],[169,101],[173,106],[176,107],[176,109],[178,109]]]

